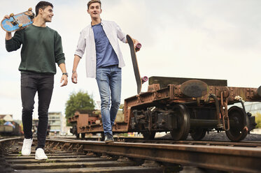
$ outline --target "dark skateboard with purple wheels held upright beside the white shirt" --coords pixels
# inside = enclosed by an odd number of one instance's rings
[[[141,93],[142,84],[144,82],[148,81],[148,77],[146,77],[146,76],[141,77],[141,75],[139,74],[139,66],[138,66],[138,62],[136,59],[136,51],[141,49],[141,44],[139,43],[135,46],[132,38],[129,35],[127,35],[127,41],[128,41],[130,52],[131,52],[132,65],[133,65],[134,74],[135,74],[136,83],[137,83],[137,93],[139,94],[139,93]]]

